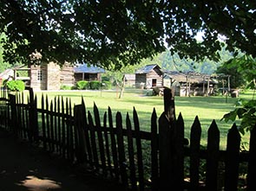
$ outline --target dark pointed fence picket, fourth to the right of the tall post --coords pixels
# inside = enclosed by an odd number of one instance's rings
[[[233,127],[227,134],[226,143],[226,168],[225,168],[225,190],[235,191],[238,189],[240,165],[240,133],[237,126]]]

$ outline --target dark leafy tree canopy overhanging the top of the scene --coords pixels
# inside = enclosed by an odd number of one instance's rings
[[[252,0],[2,0],[4,60],[87,62],[118,69],[166,47],[181,58],[218,60],[226,48],[256,55],[256,2]],[[194,36],[203,33],[203,41]]]

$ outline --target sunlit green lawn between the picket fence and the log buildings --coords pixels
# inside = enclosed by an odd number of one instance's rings
[[[92,111],[93,105],[97,105],[101,117],[102,114],[108,110],[108,106],[115,115],[116,111],[121,111],[122,117],[125,118],[127,112],[132,117],[133,108],[138,112],[141,129],[148,131],[150,128],[150,118],[153,109],[155,108],[157,116],[160,117],[163,111],[163,98],[158,96],[145,96],[146,91],[141,90],[126,90],[121,99],[115,91],[59,91],[59,92],[36,92],[40,100],[42,94],[48,95],[49,99],[61,95],[64,98],[70,98],[72,104],[81,104],[82,98],[85,101],[88,111]],[[240,98],[250,99],[253,92],[246,92],[240,94]],[[237,99],[227,98],[223,96],[214,97],[175,97],[176,116],[181,112],[185,121],[186,137],[189,137],[189,131],[193,124],[194,118],[198,116],[202,127],[201,144],[207,143],[207,129],[215,119],[220,129],[220,147],[225,149],[226,134],[231,128],[232,123],[226,124],[220,119],[223,115],[233,110],[234,103]],[[40,102],[38,102],[40,103]],[[247,138],[247,137],[246,137]],[[245,138],[245,139],[246,139]]]

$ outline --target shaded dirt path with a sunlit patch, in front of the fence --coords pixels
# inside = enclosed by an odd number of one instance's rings
[[[117,188],[88,174],[78,175],[65,162],[17,141],[0,129],[0,191],[45,190],[112,191]]]

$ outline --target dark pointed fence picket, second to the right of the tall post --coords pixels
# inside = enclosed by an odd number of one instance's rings
[[[199,190],[200,136],[201,126],[196,116],[190,132],[190,190]]]

